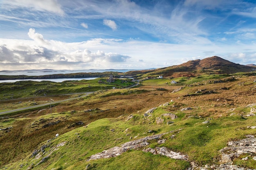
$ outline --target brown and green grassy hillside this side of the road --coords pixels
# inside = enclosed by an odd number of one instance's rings
[[[0,129],[11,128],[0,131],[0,167],[185,170],[197,164],[210,169],[221,164],[220,150],[228,142],[256,135],[251,128],[256,126],[255,76],[210,74],[172,80],[178,83],[150,79],[131,89],[99,89],[84,98],[53,106],[52,114],[46,108],[2,116]],[[70,87],[65,91],[76,91],[85,82],[73,82],[74,86],[68,82]],[[90,86],[93,88],[93,83]],[[56,86],[56,91],[62,88]],[[144,114],[152,108],[152,113]],[[165,113],[177,117],[172,119]],[[103,150],[159,134],[163,135],[116,157],[88,161]],[[144,150],[161,147],[188,159],[172,159]],[[233,165],[256,169],[254,156],[256,153],[234,157]]]

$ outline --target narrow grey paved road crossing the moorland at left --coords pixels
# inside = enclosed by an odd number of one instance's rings
[[[77,93],[77,94],[83,94],[83,95],[78,96],[78,97],[74,97],[74,98],[68,98],[68,99],[65,99],[65,100],[53,101],[53,102],[49,102],[49,103],[45,103],[45,104],[41,104],[41,105],[34,105],[34,106],[24,107],[24,108],[20,108],[20,109],[13,109],[13,110],[8,110],[8,111],[3,111],[3,112],[0,112],[0,115],[15,112],[15,111],[22,111],[22,110],[33,109],[33,108],[42,107],[42,106],[54,105],[56,103],[61,103],[61,102],[67,102],[67,101],[70,101],[70,100],[75,100],[75,99],[78,99],[78,98],[81,98],[81,97],[85,97],[88,94],[92,94],[92,93],[94,93],[94,92]],[[70,95],[70,94],[67,94],[67,95]]]

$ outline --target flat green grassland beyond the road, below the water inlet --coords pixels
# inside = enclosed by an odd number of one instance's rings
[[[112,87],[124,88],[134,84],[130,79],[125,79],[124,82],[121,79],[117,79],[115,83],[107,84],[99,84],[98,81],[100,80],[105,79],[96,78],[93,80],[63,81],[62,83],[55,83],[51,81],[18,81],[16,83],[0,83],[0,100],[33,96],[52,96],[68,93],[95,92],[101,89],[112,89]]]

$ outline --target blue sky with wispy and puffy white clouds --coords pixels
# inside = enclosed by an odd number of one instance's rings
[[[256,64],[256,0],[0,0],[0,70]]]

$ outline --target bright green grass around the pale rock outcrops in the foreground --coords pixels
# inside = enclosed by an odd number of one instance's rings
[[[158,108],[153,113],[153,118],[166,113],[163,108]],[[242,118],[241,116],[229,116],[210,120],[209,124],[202,124],[205,121],[202,118],[184,119],[185,113],[177,113],[179,118],[174,120],[171,126],[163,124],[162,126],[154,123],[148,124],[142,122],[143,116],[135,116],[135,122],[132,120],[124,121],[123,118],[106,118],[94,121],[87,127],[80,127],[68,133],[65,133],[52,141],[51,146],[56,146],[61,142],[66,144],[49,157],[45,163],[34,169],[80,169],[90,163],[89,169],[186,169],[189,162],[169,159],[161,155],[152,155],[140,150],[130,150],[122,155],[99,159],[87,162],[90,155],[99,153],[103,150],[130,141],[130,136],[137,138],[152,135],[148,130],[154,130],[154,133],[163,133],[181,129],[179,133],[170,133],[162,138],[167,139],[165,146],[176,152],[189,155],[189,159],[196,161],[199,165],[218,164],[217,157],[220,154],[218,150],[224,148],[231,139],[243,138],[246,134],[254,134],[252,129],[245,128],[255,121],[255,118]],[[58,116],[53,115],[54,117]],[[44,116],[44,118],[49,118]],[[114,129],[114,131],[110,131]],[[129,134],[126,136],[126,134]],[[174,138],[171,135],[175,134]],[[159,144],[156,141],[150,141],[150,147],[156,147]],[[46,149],[46,152],[50,148]],[[36,160],[25,159],[28,165]],[[38,160],[39,161],[39,160]],[[22,161],[21,161],[22,162]],[[20,163],[21,163],[20,162]],[[248,163],[235,161],[238,165],[248,167]],[[19,164],[19,163],[18,163]],[[248,164],[248,165],[247,165]],[[129,166],[128,166],[129,165]],[[17,165],[16,165],[17,166]],[[11,168],[12,166],[10,166]],[[13,165],[13,167],[15,167]],[[28,166],[25,166],[27,168]],[[250,164],[251,168],[256,168]]]

